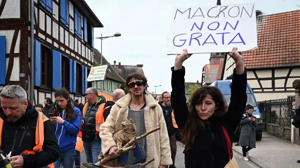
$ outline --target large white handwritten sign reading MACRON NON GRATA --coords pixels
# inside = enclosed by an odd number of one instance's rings
[[[257,48],[255,4],[176,7],[168,35],[168,55],[230,52]]]

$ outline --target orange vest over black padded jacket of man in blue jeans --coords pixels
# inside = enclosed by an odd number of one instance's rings
[[[85,118],[85,114],[86,114],[86,111],[88,110],[88,102],[85,103],[84,107],[83,107],[83,110],[82,110],[82,115],[83,115],[83,120]],[[104,108],[104,105],[105,103],[101,103],[97,112],[96,112],[96,133],[99,132],[100,130],[100,125],[103,124],[104,122],[104,117],[103,117],[103,113],[104,113],[104,110],[106,110],[107,108],[111,107],[111,106],[107,106]],[[82,129],[80,129],[79,133],[77,134],[77,136],[81,137],[82,138]]]

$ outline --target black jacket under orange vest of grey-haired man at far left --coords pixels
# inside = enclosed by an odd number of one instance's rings
[[[23,115],[16,122],[4,121],[2,133],[1,150],[5,153],[12,151],[11,156],[20,155],[25,150],[32,150],[35,144],[35,127],[38,121],[38,112],[31,106],[26,109]],[[53,124],[50,120],[44,122],[44,143],[43,151],[36,155],[23,155],[23,168],[38,168],[47,166],[59,158],[59,147],[57,144]]]

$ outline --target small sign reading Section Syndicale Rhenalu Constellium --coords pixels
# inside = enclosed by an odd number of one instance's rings
[[[92,66],[87,81],[93,82],[105,80],[108,68],[109,63],[100,66]]]

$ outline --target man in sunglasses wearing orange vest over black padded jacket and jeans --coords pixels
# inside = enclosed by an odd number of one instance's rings
[[[87,103],[83,107],[82,119],[82,141],[85,150],[85,157],[88,163],[98,162],[98,156],[101,152],[101,139],[99,137],[99,126],[102,121],[102,110],[106,103],[104,96],[98,96],[95,88],[87,88],[85,91]],[[101,121],[100,121],[100,120]],[[100,122],[99,122],[100,121]]]

